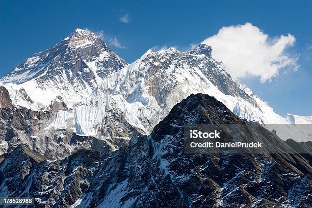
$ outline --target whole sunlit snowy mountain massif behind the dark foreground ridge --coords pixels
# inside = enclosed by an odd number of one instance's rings
[[[60,155],[65,157],[72,152],[68,141],[73,135],[107,140],[113,149],[118,149],[133,134],[150,134],[176,103],[192,93],[216,97],[243,119],[264,124],[310,123],[309,119],[283,118],[274,113],[252,90],[233,81],[211,51],[205,44],[185,52],[175,48],[148,50],[127,64],[94,33],[76,29],[1,79],[9,93],[4,93],[10,98],[6,102],[12,102],[12,109],[19,112],[21,119],[30,112],[48,115],[34,118],[34,125],[40,126],[35,129],[30,120],[24,121],[34,129],[31,132],[13,127],[19,129],[19,135],[9,139],[4,136],[4,149],[24,143],[45,156],[56,157],[55,149],[62,141]],[[10,127],[9,118],[4,117],[3,123]],[[107,129],[113,128],[113,133],[108,134]],[[125,137],[117,133],[122,128],[127,129]],[[4,129],[9,131],[8,127]],[[17,139],[8,143],[12,138]],[[48,143],[44,142],[47,138]],[[45,144],[50,146],[49,153]]]

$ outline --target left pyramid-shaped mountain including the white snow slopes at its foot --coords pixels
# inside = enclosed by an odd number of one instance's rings
[[[60,96],[71,107],[108,74],[126,65],[94,33],[76,29],[59,44],[25,60],[1,81],[16,106],[40,110]]]

